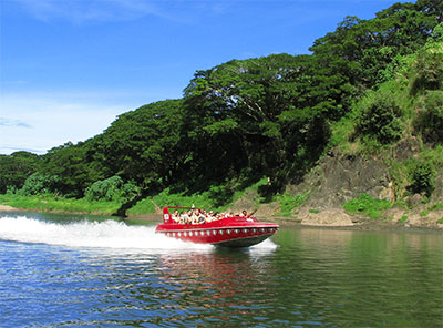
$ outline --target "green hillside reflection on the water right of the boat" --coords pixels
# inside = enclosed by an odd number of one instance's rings
[[[323,322],[443,324],[443,239],[437,233],[301,229],[284,230],[276,240],[282,245],[277,276],[285,277],[287,299],[299,300]]]

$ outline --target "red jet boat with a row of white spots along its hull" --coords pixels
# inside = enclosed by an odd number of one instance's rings
[[[173,219],[169,209],[200,209],[178,206],[163,208],[163,224],[159,224],[155,232],[184,242],[249,247],[269,238],[279,227],[278,224],[259,223],[249,216],[229,216],[202,224],[181,224]]]

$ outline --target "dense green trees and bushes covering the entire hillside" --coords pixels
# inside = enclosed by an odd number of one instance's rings
[[[371,20],[347,17],[312,54],[197,71],[183,99],[122,114],[85,142],[0,156],[0,193],[145,198],[146,208],[147,197],[200,194],[218,207],[260,181],[262,199],[272,199],[332,146],[383,147],[411,134],[442,144],[442,10],[437,0],[396,3]],[[434,162],[399,167],[404,186],[432,193]],[[300,199],[278,198],[285,213]]]

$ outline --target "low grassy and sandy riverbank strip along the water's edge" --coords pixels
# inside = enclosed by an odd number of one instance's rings
[[[28,198],[28,197],[27,197]],[[7,203],[0,199],[0,212],[38,212],[38,213],[60,213],[80,215],[113,215],[119,209],[119,204],[96,203],[85,204],[73,199],[41,199],[28,198],[19,202]],[[69,203],[69,204],[68,204]],[[24,204],[27,206],[18,206]],[[238,205],[238,204],[237,204]],[[248,212],[251,208],[247,208]],[[244,209],[244,208],[241,208]],[[343,208],[331,207],[322,211],[312,211],[310,207],[298,207],[293,215],[278,215],[272,205],[264,204],[256,213],[256,217],[261,222],[275,222],[281,226],[311,226],[338,229],[435,229],[443,230],[443,208],[441,206],[420,206],[413,209],[392,207],[381,212],[379,218],[370,218],[362,214],[352,214]],[[234,208],[238,212],[238,208]],[[278,213],[278,212],[277,212]],[[128,221],[159,222],[162,213],[159,208],[155,213],[143,213],[127,215]]]

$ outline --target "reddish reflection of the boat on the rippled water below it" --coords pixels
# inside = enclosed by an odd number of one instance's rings
[[[262,277],[270,274],[269,262],[264,257],[271,253],[215,248],[204,254],[162,255],[159,279],[175,286],[176,291],[168,297],[176,299],[183,309],[195,308],[197,298],[199,310],[205,310],[206,316],[207,311],[215,311],[218,319],[228,318],[225,309],[255,303],[264,296],[267,288]],[[245,295],[255,297],[245,299]],[[237,314],[241,312],[244,310],[238,308]]]

